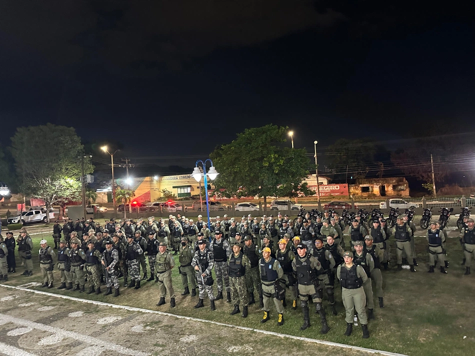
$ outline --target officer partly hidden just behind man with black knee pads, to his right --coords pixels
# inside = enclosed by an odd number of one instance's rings
[[[328,237],[333,237],[329,235]],[[322,237],[315,238],[315,248],[313,248],[313,257],[318,259],[320,262],[321,269],[316,271],[316,275],[318,278],[318,284],[322,287],[324,286],[326,289],[326,294],[328,295],[328,302],[331,306],[331,312],[333,315],[337,314],[335,308],[335,296],[333,285],[335,281],[335,277],[333,274],[333,268],[335,267],[335,260],[331,254],[331,252],[323,246],[323,239]]]

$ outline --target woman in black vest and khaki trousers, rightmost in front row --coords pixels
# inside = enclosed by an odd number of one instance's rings
[[[343,254],[344,263],[336,269],[336,277],[341,285],[341,299],[346,310],[346,336],[351,335],[353,330],[353,312],[358,314],[363,338],[369,337],[368,319],[366,317],[366,296],[363,290],[363,283],[368,279],[363,267],[353,263],[353,253],[345,251]]]

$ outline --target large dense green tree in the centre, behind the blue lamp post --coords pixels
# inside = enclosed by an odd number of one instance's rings
[[[298,192],[314,194],[302,180],[307,177],[310,163],[304,149],[282,147],[288,127],[272,124],[247,128],[236,139],[210,154],[219,172],[212,182],[225,197],[295,196]]]

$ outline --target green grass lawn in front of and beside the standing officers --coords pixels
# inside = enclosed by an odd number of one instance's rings
[[[37,250],[41,237],[39,235],[32,237],[35,250]],[[54,245],[50,235],[46,238],[50,245]],[[319,335],[319,318],[317,314],[313,313],[310,314],[311,327],[300,331],[299,327],[303,321],[300,308],[293,311],[287,306],[283,326],[276,325],[277,315],[274,309],[270,311],[271,319],[265,324],[261,324],[259,320],[262,317],[262,312],[259,310],[258,304],[249,306],[249,316],[245,319],[241,318],[240,314],[230,316],[232,305],[226,303],[225,300],[216,301],[216,311],[214,312],[209,310],[209,301],[206,299],[204,301],[206,307],[194,309],[193,305],[197,302],[197,296],[191,298],[189,295],[184,297],[180,295],[183,287],[177,268],[174,268],[172,273],[176,293],[175,308],[169,307],[168,297],[165,305],[155,306],[158,301],[158,288],[153,281],[143,282],[139,290],[121,287],[121,295],[117,298],[110,295],[87,295],[56,290],[55,288],[43,290],[409,355],[473,354],[475,326],[472,321],[475,320],[475,310],[470,305],[475,291],[475,271],[471,275],[463,275],[464,267],[460,265],[462,253],[458,239],[448,239],[447,251],[450,264],[447,269],[448,274],[445,275],[438,272],[438,267],[435,273],[427,273],[428,256],[424,237],[416,237],[416,249],[419,264],[416,267],[416,273],[410,273],[406,269],[396,271],[395,268],[382,272],[385,307],[379,308],[375,297],[376,319],[369,322],[370,338],[366,340],[361,338],[360,326],[353,328],[351,336],[343,335],[346,324],[340,297],[341,289],[338,287],[335,288],[338,315],[327,314],[330,331],[326,335]],[[392,247],[393,262],[394,253],[395,248]],[[175,260],[178,263],[177,258]],[[19,262],[18,257],[17,262]],[[23,269],[18,265],[17,273],[8,275],[7,284],[20,285],[30,281],[42,282],[37,253],[33,253],[33,263],[34,270],[31,277],[20,276]],[[54,285],[57,286],[59,285],[57,270],[54,271],[54,275]],[[102,290],[105,291],[104,286]],[[290,304],[289,300],[287,300],[287,304]],[[327,301],[324,300],[323,304],[327,306]]]

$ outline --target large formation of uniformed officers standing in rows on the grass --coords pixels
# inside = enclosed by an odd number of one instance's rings
[[[460,230],[465,274],[470,273],[469,265],[475,256],[473,225],[473,219],[465,218]],[[426,231],[428,272],[433,272],[438,262],[440,271],[446,273],[446,232],[438,221],[431,221],[429,226]],[[54,265],[61,278],[57,289],[84,292],[87,282],[87,293],[99,294],[101,284],[105,284],[106,295],[112,294],[113,290],[113,295],[118,296],[120,277],[123,277],[123,286],[135,289],[140,288],[141,280],[154,280],[159,289],[156,305],[165,304],[168,296],[170,306],[174,307],[171,270],[175,266],[173,255],[177,254],[183,286],[181,295],[196,296],[198,289],[198,302],[194,308],[204,307],[204,300],[208,299],[210,309],[215,310],[215,300],[223,299],[225,295],[226,301],[233,304],[230,314],[241,313],[242,317],[247,317],[248,305],[258,300],[263,310],[260,321],[267,322],[270,310],[275,308],[277,325],[283,325],[288,296],[294,310],[299,300],[303,313],[301,330],[310,326],[313,302],[315,314],[320,318],[320,333],[324,334],[329,331],[329,326],[322,305],[323,291],[327,295],[328,309],[337,315],[334,298],[334,283],[337,281],[345,307],[345,335],[351,334],[353,318],[357,316],[363,338],[367,338],[368,319],[374,318],[372,281],[379,307],[384,306],[381,269],[389,266],[387,241],[391,234],[396,242],[397,268],[408,264],[410,271],[415,272],[414,265],[417,265],[413,238],[415,226],[405,215],[397,218],[393,229],[386,226],[384,218],[367,226],[359,216],[355,216],[348,229],[350,246],[346,251],[342,234],[346,226],[337,214],[329,211],[324,212],[323,218],[313,220],[307,215],[298,217],[295,222],[280,213],[275,219],[272,215],[262,218],[243,216],[240,222],[224,215],[222,220],[217,216],[209,227],[201,215],[196,222],[184,216],[170,215],[167,223],[150,217],[119,223],[111,219],[106,220],[104,226],[91,218],[87,221],[77,219],[75,223],[69,219],[62,226],[55,221],[54,249],[47,245],[46,240],[40,241],[42,286],[53,286]],[[11,239],[12,243],[8,242]],[[0,242],[0,272],[6,280],[4,264],[8,263],[8,272],[15,271],[15,266],[10,266],[11,258],[6,261],[7,255],[14,257],[15,240],[8,232],[6,241]],[[13,250],[10,248],[12,244]],[[22,274],[31,275],[33,245],[25,229],[20,231],[16,244],[25,267]],[[216,281],[211,273],[213,269]]]

